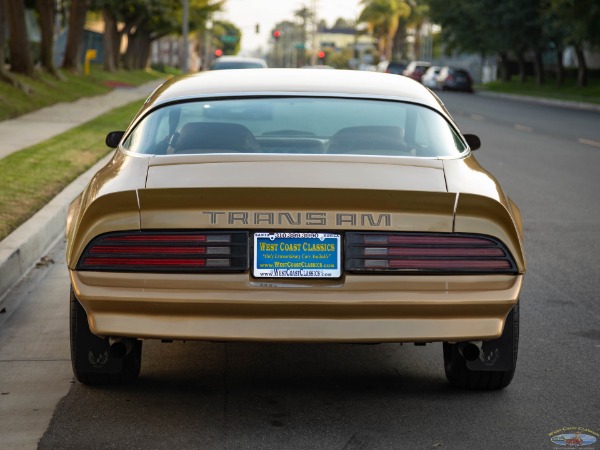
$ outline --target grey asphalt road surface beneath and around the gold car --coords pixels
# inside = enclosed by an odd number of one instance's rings
[[[600,433],[600,113],[442,97],[462,131],[481,137],[477,158],[524,218],[528,274],[507,389],[449,388],[441,344],[146,342],[136,384],[72,383],[61,241],[54,263],[3,303],[0,367],[19,382],[0,396],[0,448],[32,445],[52,410],[42,449],[551,449],[565,427]],[[29,444],[10,435],[23,420]]]

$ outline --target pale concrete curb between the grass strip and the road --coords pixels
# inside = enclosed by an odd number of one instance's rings
[[[27,222],[0,241],[0,304],[17,284],[65,233],[69,204],[110,161],[114,152],[102,158],[63,189]]]

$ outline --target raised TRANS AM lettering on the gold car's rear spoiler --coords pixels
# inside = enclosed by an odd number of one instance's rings
[[[392,216],[387,213],[335,213],[328,216],[323,212],[202,211],[202,214],[208,216],[210,225],[392,226]]]

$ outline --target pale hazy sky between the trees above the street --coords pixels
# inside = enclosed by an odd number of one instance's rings
[[[240,54],[251,55],[258,47],[266,48],[270,33],[277,22],[295,21],[294,11],[311,7],[312,0],[226,0],[225,9],[215,15],[242,30]],[[332,26],[339,17],[356,19],[361,11],[360,0],[317,0],[317,20],[325,19]],[[256,34],[256,24],[260,33]]]

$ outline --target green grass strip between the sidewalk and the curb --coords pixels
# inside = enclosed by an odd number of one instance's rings
[[[129,103],[0,159],[0,240],[107,155],[107,132],[124,130],[144,100]]]

